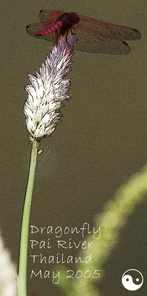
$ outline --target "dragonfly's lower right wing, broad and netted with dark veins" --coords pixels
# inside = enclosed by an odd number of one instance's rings
[[[126,54],[129,45],[106,34],[99,34],[85,27],[75,25],[74,48],[81,51],[103,52],[110,54]]]

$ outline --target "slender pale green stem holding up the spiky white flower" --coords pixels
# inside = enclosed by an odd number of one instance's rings
[[[27,262],[28,262],[28,238],[29,238],[29,222],[31,213],[31,204],[33,196],[33,188],[37,167],[37,149],[38,141],[32,144],[30,169],[28,176],[28,183],[26,189],[26,196],[24,201],[24,209],[22,215],[21,235],[20,235],[20,249],[19,249],[19,264],[18,264],[18,281],[17,281],[17,295],[27,296]]]

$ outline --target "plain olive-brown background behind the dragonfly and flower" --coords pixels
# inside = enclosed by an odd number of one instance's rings
[[[29,36],[26,26],[39,21],[41,9],[61,9],[131,26],[142,35],[139,41],[127,42],[131,48],[128,55],[75,50],[69,75],[72,98],[62,110],[63,122],[51,138],[41,141],[40,148],[45,151],[38,159],[31,225],[82,227],[87,222],[92,227],[95,214],[103,211],[116,189],[147,163],[147,1],[5,0],[0,6],[0,228],[17,264],[31,151],[22,112],[24,85],[29,83],[27,73],[34,74],[52,46]],[[29,248],[29,255],[35,253]],[[57,254],[57,248],[51,253]],[[76,254],[74,250],[70,253]],[[29,257],[28,296],[32,290],[36,296],[62,296],[51,280],[30,280],[31,260]],[[146,200],[122,229],[105,268],[99,285],[102,295],[147,294]],[[122,274],[131,268],[144,276],[142,288],[134,292],[125,290],[121,283]],[[68,269],[73,268],[70,265]]]

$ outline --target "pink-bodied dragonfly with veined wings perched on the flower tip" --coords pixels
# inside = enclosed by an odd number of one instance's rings
[[[58,42],[60,36],[74,35],[74,48],[87,52],[127,54],[129,45],[124,40],[137,40],[141,34],[134,28],[110,24],[94,18],[62,10],[41,10],[40,23],[26,27],[27,33],[38,39]]]

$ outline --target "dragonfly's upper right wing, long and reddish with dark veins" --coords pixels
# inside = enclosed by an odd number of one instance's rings
[[[119,40],[137,40],[141,38],[141,34],[136,29],[109,24],[90,17],[80,16],[78,24]]]

